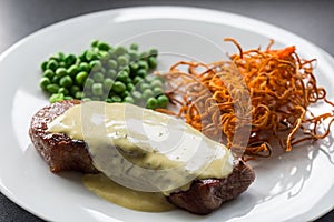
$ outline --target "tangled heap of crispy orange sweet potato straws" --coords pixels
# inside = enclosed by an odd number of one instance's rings
[[[247,107],[247,99],[242,98],[245,93],[239,93],[246,90],[252,105],[242,114],[249,114],[252,121],[249,138],[244,141],[244,157],[269,157],[273,138],[291,151],[299,142],[328,135],[334,121],[334,104],[326,99],[325,89],[316,85],[313,74],[315,59],[301,59],[295,47],[271,49],[274,41],[265,50],[247,51],[232,38],[225,41],[232,41],[239,50],[238,54],[230,56],[232,61],[209,64],[180,61],[169,72],[158,73],[167,80],[169,90],[166,94],[179,109],[178,113],[161,112],[184,118],[209,137],[224,135],[222,142],[232,148],[237,120],[242,118],[235,112],[235,105],[236,101],[244,100]],[[180,71],[185,67],[187,71]],[[234,69],[242,75],[234,74]],[[234,82],[232,87],[229,81]],[[308,107],[320,101],[330,104],[331,110],[315,115]],[[325,130],[321,131],[325,120]]]

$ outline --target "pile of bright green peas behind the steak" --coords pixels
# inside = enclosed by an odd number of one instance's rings
[[[139,52],[137,43],[126,48],[95,40],[79,56],[59,52],[42,62],[39,85],[51,103],[78,99],[166,108],[164,79],[150,74],[157,56],[156,49]]]

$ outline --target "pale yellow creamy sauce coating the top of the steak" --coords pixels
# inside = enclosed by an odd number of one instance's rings
[[[105,194],[119,198],[130,189],[140,191],[140,196],[168,195],[187,190],[195,179],[220,179],[233,170],[232,153],[223,144],[181,120],[128,103],[73,105],[49,123],[48,130],[85,140],[92,164],[116,183],[106,189],[105,182],[99,182],[105,180],[90,178],[88,182],[86,178],[84,183],[98,195],[130,209],[134,206]],[[111,192],[115,184],[117,191]],[[135,202],[134,196],[121,201]]]

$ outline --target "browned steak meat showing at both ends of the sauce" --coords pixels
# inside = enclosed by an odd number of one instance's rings
[[[67,170],[84,173],[98,173],[92,165],[82,140],[72,140],[63,133],[48,132],[48,123],[80,101],[62,101],[39,110],[31,120],[29,135],[31,141],[49,164],[51,172]],[[242,161],[234,167],[233,172],[225,179],[195,180],[187,191],[176,191],[167,199],[177,205],[196,214],[208,214],[218,209],[222,203],[238,196],[255,179],[253,169]]]

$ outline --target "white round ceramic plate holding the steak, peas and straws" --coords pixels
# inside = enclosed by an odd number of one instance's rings
[[[236,38],[245,49],[265,47],[268,39],[275,39],[276,47],[295,44],[302,57],[317,59],[318,84],[333,99],[333,58],[304,39],[261,21],[171,7],[128,8],[70,19],[24,38],[0,58],[1,192],[52,221],[310,221],[333,209],[331,139],[256,162],[256,181],[247,192],[207,216],[179,210],[144,213],[114,205],[88,192],[79,174],[50,173],[32,148],[30,118],[48,103],[38,87],[39,65],[50,54],[79,53],[92,39],[112,44],[136,41],[141,49],[158,48],[159,69],[166,70],[179,59],[213,61],[224,59],[226,51],[236,52],[234,46],[222,41],[224,37]]]

